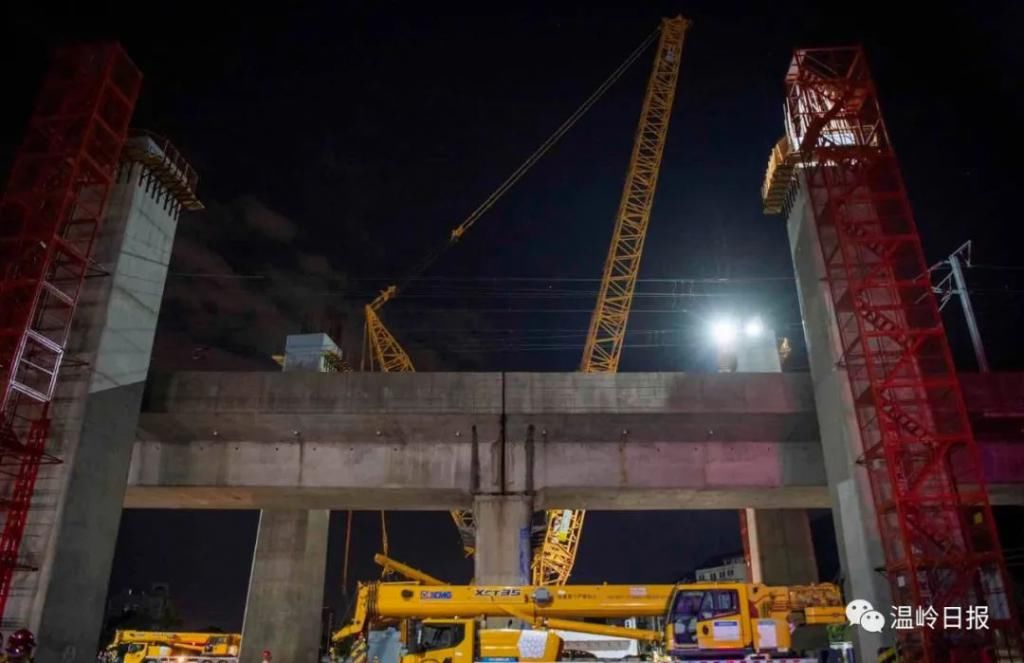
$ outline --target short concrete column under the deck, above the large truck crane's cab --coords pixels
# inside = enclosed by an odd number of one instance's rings
[[[818,581],[807,511],[749,508],[745,515],[752,582],[806,585]]]

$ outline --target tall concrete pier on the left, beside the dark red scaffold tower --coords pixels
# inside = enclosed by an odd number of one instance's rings
[[[48,451],[63,462],[41,468],[22,546],[39,571],[15,576],[6,615],[36,630],[40,661],[95,660],[179,210],[147,171],[123,165],[52,410]]]

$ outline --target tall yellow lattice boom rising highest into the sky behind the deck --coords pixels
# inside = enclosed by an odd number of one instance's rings
[[[623,198],[615,215],[611,246],[604,262],[604,276],[597,305],[590,320],[587,344],[580,369],[584,373],[614,373],[623,354],[623,340],[636,290],[640,258],[654,202],[654,188],[662,168],[669,119],[676,97],[683,38],[690,22],[683,16],[662,19],[654,67],[640,111],[630,166],[626,171]],[[540,553],[534,558],[532,580],[537,585],[563,585],[575,564],[583,534],[583,510],[548,512],[548,530]]]

